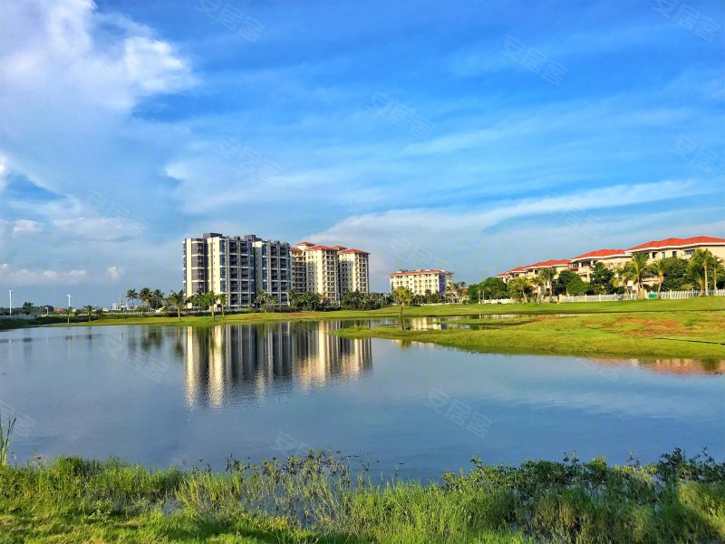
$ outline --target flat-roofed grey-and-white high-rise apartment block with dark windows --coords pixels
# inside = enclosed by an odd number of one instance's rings
[[[256,293],[276,296],[289,304],[289,244],[255,235],[229,237],[215,232],[184,240],[186,296],[214,291],[227,297],[226,306],[254,304]]]

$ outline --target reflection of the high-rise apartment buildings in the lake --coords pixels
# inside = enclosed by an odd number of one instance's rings
[[[283,322],[187,328],[187,402],[218,406],[232,394],[256,398],[370,370],[370,339],[331,335],[339,326]]]

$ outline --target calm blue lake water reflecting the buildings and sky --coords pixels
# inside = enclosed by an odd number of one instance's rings
[[[229,455],[331,448],[367,456],[373,472],[428,479],[472,454],[725,456],[725,362],[470,354],[329,334],[354,324],[0,333],[0,411],[18,419],[19,461],[73,453],[223,470]]]

